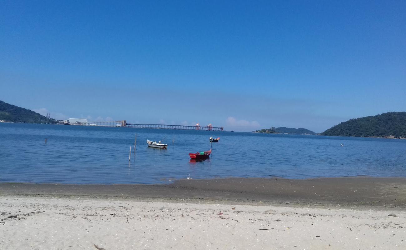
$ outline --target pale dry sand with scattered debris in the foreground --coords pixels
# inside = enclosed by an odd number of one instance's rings
[[[399,211],[5,196],[0,213],[4,250],[406,249]]]

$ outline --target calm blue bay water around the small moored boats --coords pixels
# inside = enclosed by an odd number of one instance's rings
[[[167,150],[147,147],[165,136]],[[189,152],[209,150],[210,136],[220,137],[210,159],[190,161]],[[0,182],[164,183],[188,174],[406,177],[406,140],[0,123]]]

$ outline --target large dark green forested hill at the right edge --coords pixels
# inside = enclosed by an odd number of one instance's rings
[[[355,137],[406,137],[406,112],[388,112],[341,122],[321,135]]]

